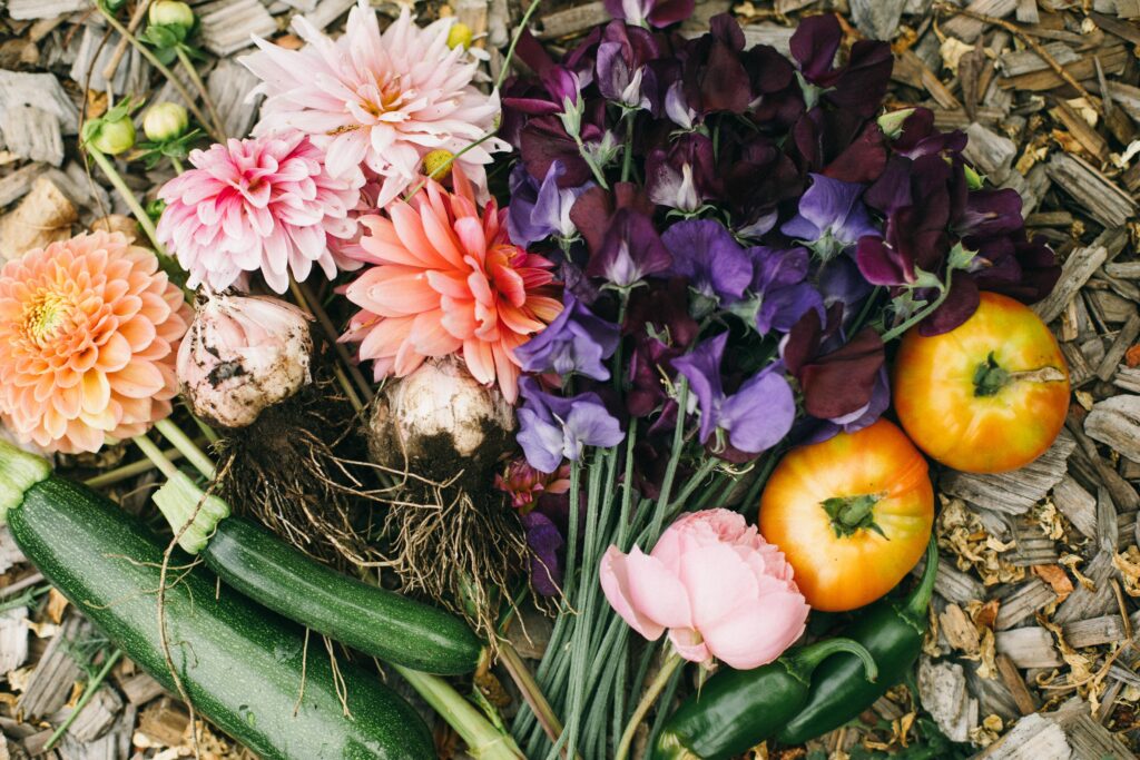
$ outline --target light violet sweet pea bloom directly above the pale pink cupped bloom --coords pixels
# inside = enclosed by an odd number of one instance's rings
[[[779,443],[796,419],[796,399],[780,374],[769,365],[726,395],[720,384],[720,359],[728,334],[700,343],[692,353],[673,360],[674,368],[689,379],[701,412],[700,440],[707,443],[714,431],[723,430],[728,444],[747,453],[759,453]]]

